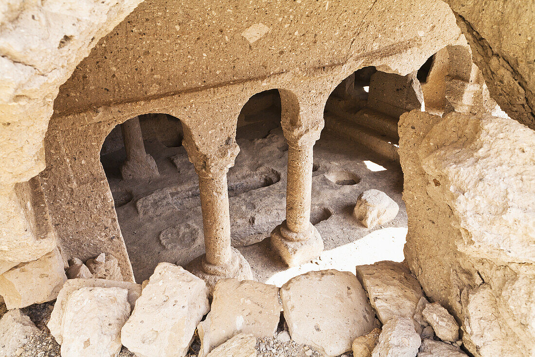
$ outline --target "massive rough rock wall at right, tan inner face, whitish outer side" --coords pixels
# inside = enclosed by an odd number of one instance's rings
[[[413,110],[399,123],[405,255],[476,356],[535,353],[535,132]]]

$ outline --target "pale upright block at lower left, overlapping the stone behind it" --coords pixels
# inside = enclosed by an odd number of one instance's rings
[[[116,356],[130,311],[127,289],[83,287],[73,292],[65,304],[62,357]]]

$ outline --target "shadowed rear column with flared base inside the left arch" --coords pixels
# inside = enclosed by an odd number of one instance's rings
[[[123,180],[143,180],[159,176],[156,161],[145,152],[139,117],[121,124],[126,150],[126,161],[121,166]]]

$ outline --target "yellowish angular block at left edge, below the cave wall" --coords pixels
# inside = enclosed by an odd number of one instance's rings
[[[0,275],[0,295],[7,309],[56,299],[67,280],[63,259],[54,249],[33,262],[20,263]]]

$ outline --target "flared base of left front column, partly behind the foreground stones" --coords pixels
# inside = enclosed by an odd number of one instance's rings
[[[233,278],[238,280],[255,280],[253,277],[253,271],[249,262],[241,255],[238,249],[232,248],[232,259],[230,266],[221,269],[219,273],[207,273],[203,269],[204,255],[193,259],[186,266],[186,270],[194,274],[195,276],[203,279],[208,286],[210,296],[213,293],[213,289],[216,287],[216,282],[219,279]]]

